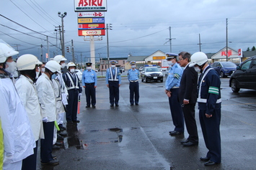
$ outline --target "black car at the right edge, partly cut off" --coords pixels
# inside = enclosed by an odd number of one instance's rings
[[[236,93],[240,88],[256,90],[256,55],[237,66],[229,79],[229,87]]]

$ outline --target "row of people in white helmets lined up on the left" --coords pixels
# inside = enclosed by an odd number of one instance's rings
[[[79,123],[81,87],[76,65],[69,62],[66,66],[62,55],[42,63],[27,54],[14,62],[12,56],[17,54],[0,39],[0,169],[36,169],[39,139],[41,164],[58,164],[52,149],[57,129],[66,129],[65,113],[68,123]],[[16,70],[20,74],[17,80],[13,76]]]

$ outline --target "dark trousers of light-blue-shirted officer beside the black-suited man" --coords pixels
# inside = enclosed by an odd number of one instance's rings
[[[182,108],[178,100],[179,88],[172,88],[171,97],[169,98],[169,108],[172,113],[172,122],[175,126],[175,131],[184,132],[184,116]]]

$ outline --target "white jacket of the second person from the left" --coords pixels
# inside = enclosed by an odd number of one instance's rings
[[[35,141],[39,138],[44,138],[40,104],[33,81],[30,78],[21,75],[15,82],[15,88],[27,111]]]

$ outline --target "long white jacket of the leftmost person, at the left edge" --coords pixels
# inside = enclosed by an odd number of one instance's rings
[[[34,153],[35,138],[29,118],[12,80],[0,79],[0,117],[4,132],[4,164],[22,161]]]

